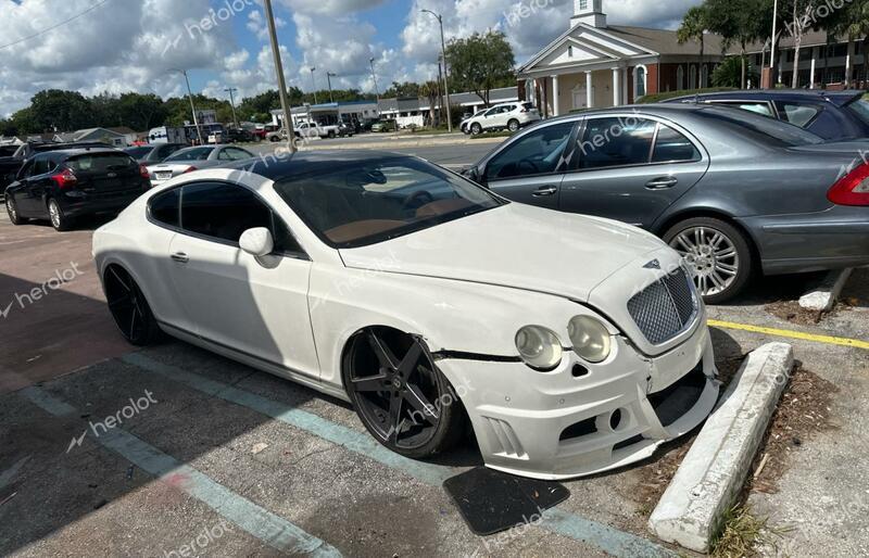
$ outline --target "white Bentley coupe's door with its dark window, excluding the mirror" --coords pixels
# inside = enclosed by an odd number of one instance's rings
[[[241,233],[273,231],[275,252],[256,258]],[[172,280],[196,332],[243,355],[318,377],[307,312],[311,261],[253,191],[203,181],[181,191],[181,230],[168,257]]]

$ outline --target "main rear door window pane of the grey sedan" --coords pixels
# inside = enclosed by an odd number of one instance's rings
[[[643,118],[588,121],[579,144],[580,168],[606,168],[647,164],[656,124]]]

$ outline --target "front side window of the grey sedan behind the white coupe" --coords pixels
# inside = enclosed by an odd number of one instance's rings
[[[574,131],[572,122],[545,126],[531,131],[489,162],[486,178],[504,180],[522,176],[546,175],[567,170],[562,157]]]

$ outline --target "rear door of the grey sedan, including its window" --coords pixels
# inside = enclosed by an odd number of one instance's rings
[[[700,181],[706,151],[681,127],[631,114],[587,118],[559,208],[651,228]]]

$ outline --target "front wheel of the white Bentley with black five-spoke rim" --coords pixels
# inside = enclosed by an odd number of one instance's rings
[[[465,409],[421,340],[367,328],[350,340],[341,377],[360,420],[389,449],[420,459],[462,439]]]

